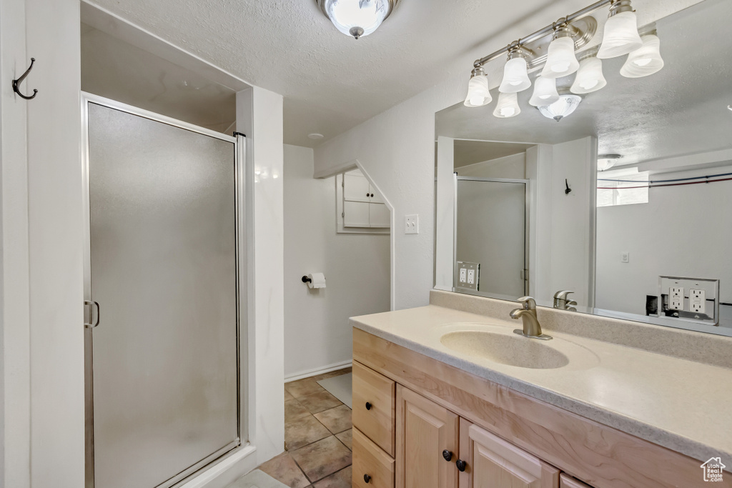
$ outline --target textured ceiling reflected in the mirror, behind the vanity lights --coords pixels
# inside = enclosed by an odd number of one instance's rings
[[[706,0],[657,22],[665,68],[630,80],[624,57],[604,62],[605,89],[584,97],[560,122],[545,119],[519,94],[523,112],[512,119],[462,104],[438,113],[437,134],[453,138],[560,143],[596,135],[600,154],[622,154],[623,164],[732,147],[730,80],[732,1]],[[560,80],[568,85],[572,78]]]

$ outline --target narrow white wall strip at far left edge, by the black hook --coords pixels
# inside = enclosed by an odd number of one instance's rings
[[[0,486],[30,485],[28,104],[11,80],[26,70],[26,4],[0,0]],[[20,19],[20,20],[19,20]],[[27,89],[23,83],[23,89]]]

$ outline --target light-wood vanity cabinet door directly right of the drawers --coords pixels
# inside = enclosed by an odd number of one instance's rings
[[[397,385],[396,487],[457,488],[458,427],[455,413]]]

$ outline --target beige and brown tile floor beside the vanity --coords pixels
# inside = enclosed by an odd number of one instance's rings
[[[259,467],[290,488],[351,488],[351,409],[318,381],[351,372],[285,383],[285,453]]]

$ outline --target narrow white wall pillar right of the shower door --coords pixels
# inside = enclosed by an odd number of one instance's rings
[[[283,97],[236,94],[236,129],[247,135],[249,438],[262,463],[284,450]]]

